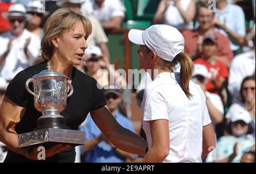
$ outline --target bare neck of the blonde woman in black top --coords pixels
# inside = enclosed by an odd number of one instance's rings
[[[68,76],[71,79],[73,65],[62,60],[61,57],[57,57],[56,54],[52,56],[51,69]]]

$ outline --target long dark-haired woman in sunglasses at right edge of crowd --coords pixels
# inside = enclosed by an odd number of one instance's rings
[[[240,90],[240,103],[234,103],[229,108],[226,114],[228,122],[230,122],[230,117],[237,109],[243,109],[250,113],[252,118],[250,125],[254,128],[252,135],[255,138],[255,77],[250,76],[243,79]]]

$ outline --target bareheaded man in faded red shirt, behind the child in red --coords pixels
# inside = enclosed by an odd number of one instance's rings
[[[233,58],[230,41],[228,37],[214,30],[214,13],[208,10],[208,6],[207,3],[200,3],[197,9],[199,27],[195,30],[187,30],[182,33],[185,39],[184,52],[189,54],[192,60],[201,57],[204,35],[213,33],[217,37],[216,55],[218,56],[218,60],[224,63],[226,67],[229,67]]]

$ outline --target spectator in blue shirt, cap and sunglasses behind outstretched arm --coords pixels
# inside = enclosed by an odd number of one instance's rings
[[[124,128],[135,132],[133,123],[123,116],[118,105],[122,102],[122,94],[117,86],[104,87],[107,107],[113,114],[115,120]],[[134,160],[137,155],[129,154],[112,145],[94,124],[92,118],[88,116],[85,125],[80,128],[86,133],[86,143],[81,146],[82,154],[86,154],[85,161],[88,163],[123,163],[126,160]]]

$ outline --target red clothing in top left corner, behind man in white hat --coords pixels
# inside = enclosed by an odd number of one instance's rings
[[[9,7],[11,6],[10,0],[0,1],[0,33],[9,31],[11,29],[8,19],[3,18],[3,12],[9,12]]]

